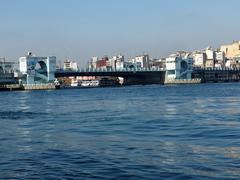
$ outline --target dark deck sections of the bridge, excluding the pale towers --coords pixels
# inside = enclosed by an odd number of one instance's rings
[[[163,84],[165,72],[163,68],[57,70],[55,77],[111,76],[123,77],[126,84]],[[202,82],[240,81],[240,68],[193,68],[192,78],[202,79]]]

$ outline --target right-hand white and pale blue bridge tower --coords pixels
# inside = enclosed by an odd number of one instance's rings
[[[166,78],[167,79],[191,79],[193,59],[188,55],[182,58],[176,54],[166,58]]]

